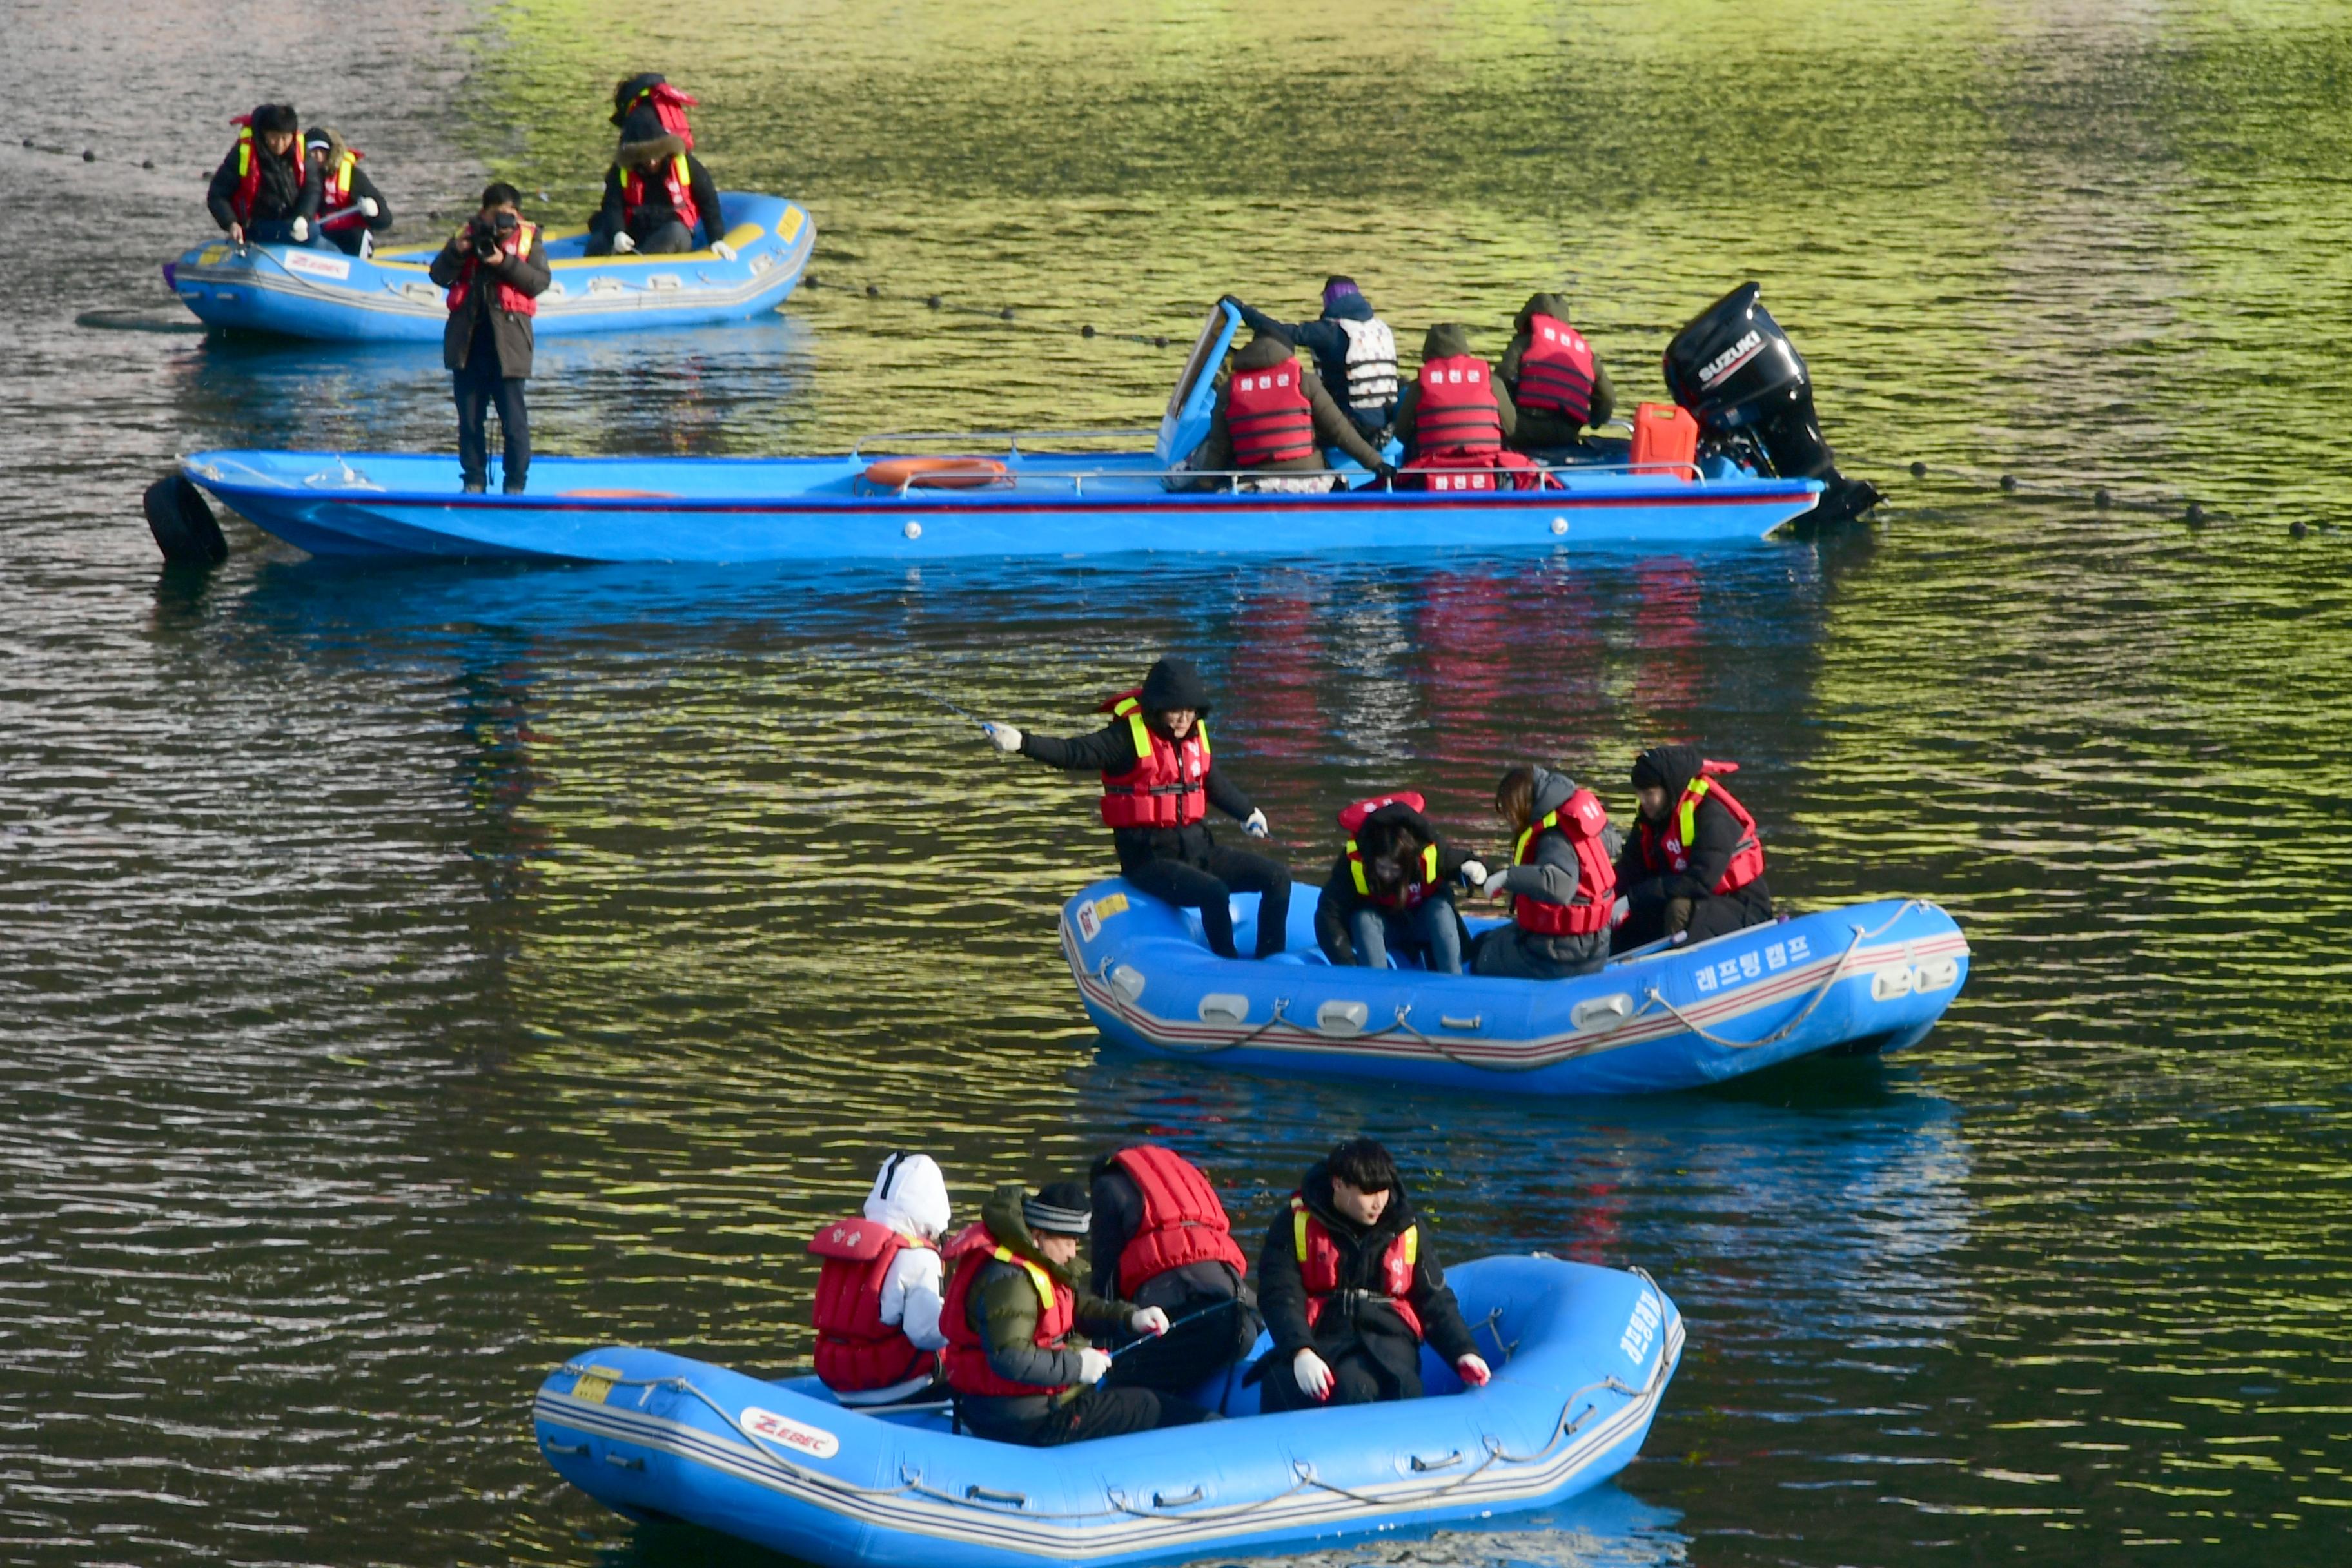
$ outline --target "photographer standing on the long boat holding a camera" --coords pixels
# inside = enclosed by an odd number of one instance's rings
[[[532,411],[522,383],[532,374],[532,317],[548,287],[548,244],[524,223],[522,193],[499,181],[482,190],[482,212],[449,235],[433,259],[433,282],[449,289],[442,364],[456,388],[456,461],[466,489],[489,484],[489,407],[506,435],[506,494],[520,496],[532,470]]]

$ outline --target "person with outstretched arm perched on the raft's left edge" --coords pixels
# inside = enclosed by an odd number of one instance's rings
[[[1232,893],[1258,896],[1258,957],[1282,952],[1291,914],[1291,875],[1265,856],[1218,844],[1202,818],[1209,806],[1263,839],[1265,813],[1209,766],[1209,689],[1183,658],[1162,658],[1134,691],[1103,703],[1110,722],[1091,736],[1023,736],[1011,724],[981,724],[997,750],[1073,773],[1103,773],[1103,825],[1120,875],[1178,910],[1200,910],[1209,952],[1232,947]]]

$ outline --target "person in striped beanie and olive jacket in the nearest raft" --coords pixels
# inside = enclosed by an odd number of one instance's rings
[[[1051,1182],[1035,1197],[1014,1182],[997,1187],[981,1222],[948,1244],[948,1387],[957,1420],[976,1436],[1054,1448],[1211,1418],[1188,1399],[1103,1385],[1110,1354],[1082,1331],[1160,1335],[1169,1314],[1075,1286],[1070,1265],[1089,1218],[1077,1182]]]

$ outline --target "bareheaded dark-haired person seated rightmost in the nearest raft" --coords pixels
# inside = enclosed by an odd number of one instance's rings
[[[1352,1138],[1308,1168],[1258,1253],[1258,1307],[1275,1347],[1263,1408],[1421,1399],[1421,1342],[1486,1385],[1470,1324],[1414,1220],[1397,1161]]]

